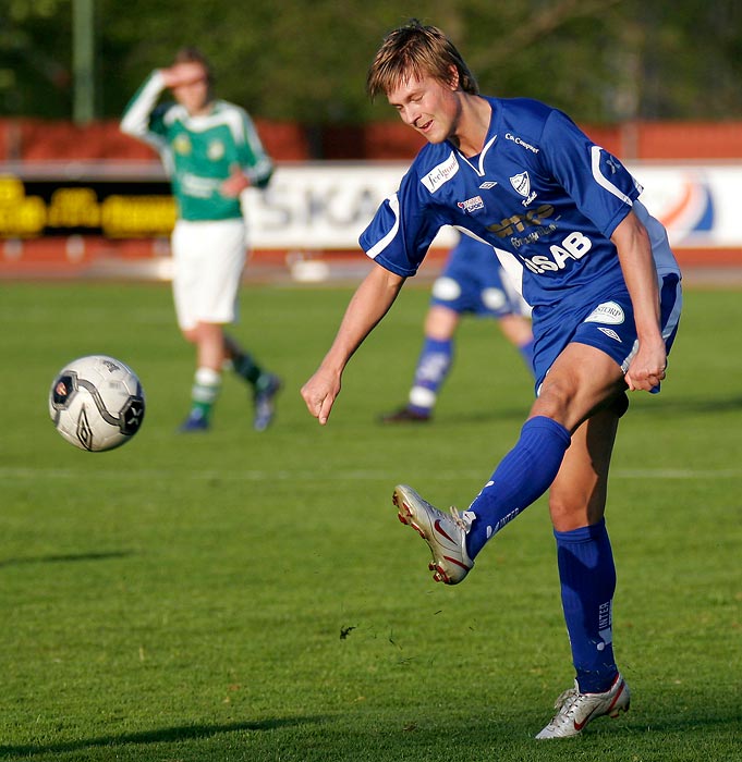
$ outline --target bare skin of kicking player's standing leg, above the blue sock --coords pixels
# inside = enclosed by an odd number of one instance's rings
[[[549,513],[558,531],[593,525],[603,517],[618,422],[616,409],[603,409],[572,434],[549,491]]]

